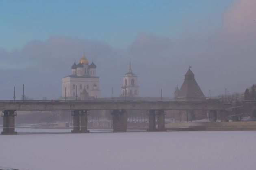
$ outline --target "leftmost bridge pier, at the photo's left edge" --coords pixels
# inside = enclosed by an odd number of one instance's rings
[[[17,134],[15,132],[15,110],[4,110],[2,117],[3,122],[3,132],[1,134]]]

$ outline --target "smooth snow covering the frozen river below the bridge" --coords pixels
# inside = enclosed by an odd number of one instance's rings
[[[255,131],[48,131],[54,133],[0,135],[0,166],[19,170],[255,170]]]

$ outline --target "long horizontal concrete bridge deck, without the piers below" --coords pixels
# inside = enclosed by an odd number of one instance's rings
[[[0,110],[225,110],[230,104],[176,101],[0,101]]]

